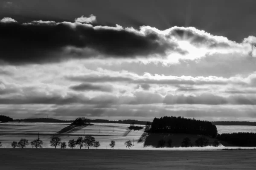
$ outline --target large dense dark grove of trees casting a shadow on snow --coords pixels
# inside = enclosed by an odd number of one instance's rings
[[[154,118],[151,133],[187,133],[215,137],[218,134],[217,127],[208,121],[187,119],[181,116],[164,116]]]

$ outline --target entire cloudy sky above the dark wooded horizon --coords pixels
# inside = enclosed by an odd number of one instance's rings
[[[0,114],[256,120],[255,0],[0,0]]]

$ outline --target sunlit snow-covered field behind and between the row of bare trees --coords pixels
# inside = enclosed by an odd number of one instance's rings
[[[12,141],[19,141],[21,138],[26,138],[29,141],[39,138],[44,142],[43,147],[51,147],[49,141],[51,136],[67,127],[68,123],[37,123],[37,122],[8,122],[0,124],[0,141],[2,147],[10,147]],[[134,141],[134,146],[131,149],[136,150],[219,150],[219,149],[236,149],[239,147],[172,147],[172,148],[154,148],[143,147],[143,143],[138,143],[138,139],[143,134],[142,130],[128,130],[128,124],[115,123],[93,123],[91,126],[82,127],[78,130],[61,133],[62,142],[68,142],[70,139],[77,139],[78,136],[92,135],[96,141],[99,141],[101,146],[99,149],[111,149],[109,143],[111,140],[116,141],[114,149],[126,149],[125,141]],[[143,125],[135,125],[142,126]],[[217,126],[218,133],[233,133],[233,132],[256,132],[256,126]],[[30,147],[30,145],[28,146]],[[240,147],[241,149],[252,149],[252,147]],[[254,148],[254,147],[253,147]],[[93,148],[92,148],[93,149]],[[127,148],[128,149],[128,148]]]

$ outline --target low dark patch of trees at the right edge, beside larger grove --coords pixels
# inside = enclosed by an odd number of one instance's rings
[[[256,147],[256,133],[222,133],[218,134],[217,139],[226,141],[235,146]]]

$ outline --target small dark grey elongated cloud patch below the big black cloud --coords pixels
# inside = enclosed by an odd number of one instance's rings
[[[74,91],[103,91],[103,92],[112,92],[112,85],[92,85],[87,83],[82,83],[79,85],[70,86],[70,89]]]

